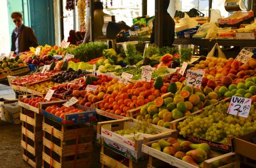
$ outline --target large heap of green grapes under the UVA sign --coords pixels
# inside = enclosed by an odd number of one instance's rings
[[[205,107],[203,114],[188,117],[179,123],[180,134],[227,144],[227,136],[239,136],[256,130],[256,110],[253,104],[248,118],[227,114],[228,107],[229,103],[224,101]]]

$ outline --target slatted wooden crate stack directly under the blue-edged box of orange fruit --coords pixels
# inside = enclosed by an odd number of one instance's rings
[[[93,128],[86,124],[65,126],[43,118],[42,166],[91,167]]]

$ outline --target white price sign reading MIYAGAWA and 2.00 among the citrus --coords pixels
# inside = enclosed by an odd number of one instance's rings
[[[186,86],[200,88],[204,74],[205,71],[201,70],[187,70]]]

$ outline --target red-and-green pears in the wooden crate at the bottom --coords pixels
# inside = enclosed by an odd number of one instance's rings
[[[153,143],[151,147],[197,167],[203,167],[204,160],[221,155],[212,152],[208,144],[192,144],[189,141],[181,141],[180,139],[173,137],[170,137],[167,140],[160,139],[157,143]],[[221,165],[231,163],[232,161],[232,159],[223,158],[212,162],[211,166],[220,167]]]

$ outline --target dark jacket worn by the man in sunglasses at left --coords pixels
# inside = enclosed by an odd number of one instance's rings
[[[14,31],[15,29],[12,32],[11,51],[16,50],[16,46],[15,46],[16,34],[14,33]],[[24,52],[29,50],[29,47],[37,47],[37,46],[38,46],[38,42],[35,37],[33,29],[23,24],[18,34],[18,52]]]

